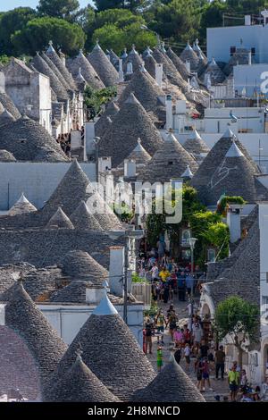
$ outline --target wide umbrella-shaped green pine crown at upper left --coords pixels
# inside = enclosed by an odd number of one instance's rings
[[[86,36],[77,24],[57,18],[37,18],[29,21],[24,29],[17,30],[12,43],[18,54],[35,55],[46,48],[49,40],[68,55],[77,54],[85,45]]]

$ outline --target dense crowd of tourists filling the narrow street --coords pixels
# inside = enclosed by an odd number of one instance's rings
[[[211,374],[216,381],[225,380],[225,352],[223,346],[216,346],[213,335],[204,330],[204,320],[198,315],[198,307],[193,297],[197,297],[205,273],[199,273],[197,267],[180,265],[174,258],[164,253],[158,255],[154,248],[147,256],[138,260],[138,275],[151,282],[152,298],[159,304],[155,315],[148,315],[144,323],[145,354],[153,352],[153,338],[155,337],[156,365],[158,372],[163,366],[163,346],[172,345],[172,354],[180,365],[184,359],[186,373],[194,371],[197,389],[201,392],[214,391]],[[188,302],[188,318],[179,316],[173,303]],[[167,304],[165,310],[164,304]],[[187,310],[187,309],[186,309]],[[170,336],[170,342],[166,338]],[[169,349],[171,349],[169,347]],[[247,382],[245,370],[241,370],[237,362],[233,362],[227,374],[230,396],[222,397],[222,401],[251,402],[260,400],[259,387],[252,388]],[[214,395],[216,401],[221,396]]]

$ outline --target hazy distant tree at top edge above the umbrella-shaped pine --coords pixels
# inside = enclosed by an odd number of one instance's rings
[[[70,19],[71,14],[78,11],[78,0],[39,0],[38,13],[41,16]]]

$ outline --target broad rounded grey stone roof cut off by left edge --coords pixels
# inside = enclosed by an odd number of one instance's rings
[[[28,117],[21,117],[1,128],[0,148],[11,152],[18,161],[68,161],[67,156],[48,131]]]

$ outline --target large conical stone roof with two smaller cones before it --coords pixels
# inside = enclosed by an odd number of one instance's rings
[[[88,181],[85,172],[82,171],[80,164],[74,160],[69,170],[63,176],[63,180],[54,190],[52,196],[42,209],[41,216],[44,223],[52,217],[58,206],[62,206],[63,212],[70,216],[77,209],[81,200],[87,202],[89,197],[94,196],[93,207],[96,220],[105,230],[119,229],[121,223],[102,197],[97,193],[92,193],[92,186]],[[89,208],[90,211],[90,208]],[[102,214],[100,212],[103,211]]]

